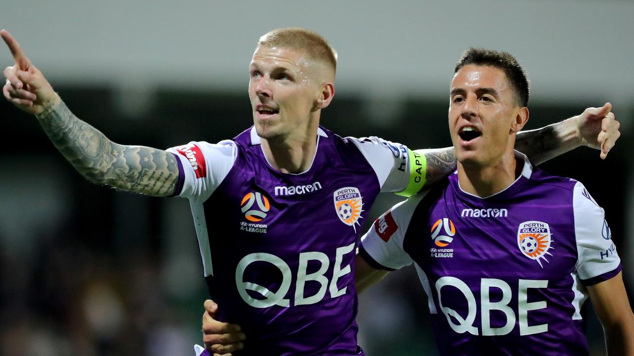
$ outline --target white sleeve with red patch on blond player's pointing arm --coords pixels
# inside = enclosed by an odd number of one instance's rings
[[[167,151],[178,158],[182,167],[176,196],[200,203],[207,200],[223,182],[238,156],[236,143],[230,140],[217,144],[190,142]]]

